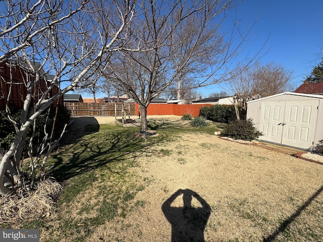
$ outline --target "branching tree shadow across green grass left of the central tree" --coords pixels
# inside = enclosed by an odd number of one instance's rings
[[[149,153],[150,146],[166,139],[163,135],[143,139],[134,133],[134,129],[102,131],[62,147],[52,156],[51,175],[64,181],[111,162],[130,160],[142,153]]]

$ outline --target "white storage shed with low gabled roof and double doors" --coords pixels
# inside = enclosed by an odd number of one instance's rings
[[[323,95],[284,92],[247,104],[261,141],[307,150],[323,139]]]

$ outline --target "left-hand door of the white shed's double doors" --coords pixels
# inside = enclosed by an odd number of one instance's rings
[[[274,143],[282,142],[285,102],[261,102],[259,130],[261,140]]]

